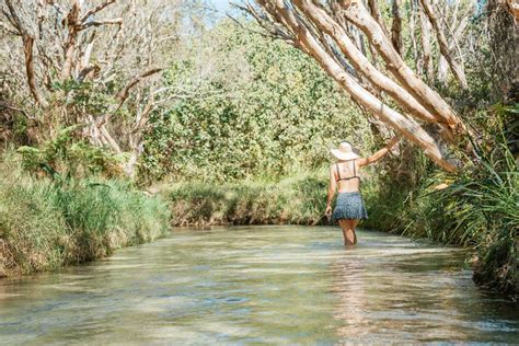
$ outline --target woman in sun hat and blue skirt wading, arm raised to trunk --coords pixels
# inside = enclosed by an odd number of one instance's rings
[[[382,159],[399,140],[400,136],[393,137],[383,149],[369,158],[357,155],[347,141],[341,142],[337,149],[331,150],[337,162],[330,166],[328,199],[325,214],[328,218],[332,217],[334,221],[338,220],[345,245],[357,244],[355,227],[360,219],[368,218],[360,195],[360,176],[358,176],[360,168]],[[332,200],[336,189],[338,189],[337,201],[332,214]]]

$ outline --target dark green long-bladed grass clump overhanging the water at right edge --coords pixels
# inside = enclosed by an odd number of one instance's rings
[[[519,107],[509,108],[519,113]],[[474,143],[478,161],[439,194],[451,216],[451,237],[470,241],[476,251],[474,280],[504,292],[519,292],[517,241],[519,231],[519,171],[499,117],[491,150]],[[516,120],[517,123],[517,120]]]

